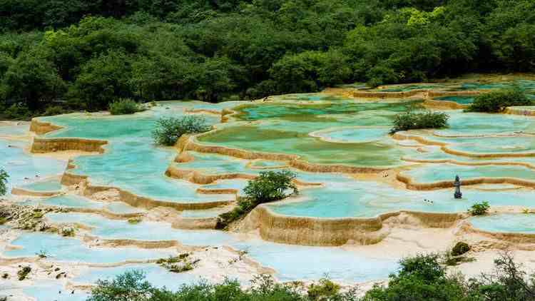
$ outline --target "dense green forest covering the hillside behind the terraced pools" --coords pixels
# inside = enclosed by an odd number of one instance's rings
[[[535,71],[533,0],[0,0],[0,111]]]

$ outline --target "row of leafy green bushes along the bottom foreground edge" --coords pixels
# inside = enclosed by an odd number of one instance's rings
[[[450,256],[446,258],[451,260]],[[387,285],[374,285],[367,292],[355,287],[342,290],[327,278],[307,286],[303,282],[275,282],[269,275],[256,276],[246,289],[236,280],[225,280],[216,284],[201,281],[183,285],[172,292],[165,287],[154,287],[146,281],[143,272],[133,270],[113,280],[98,280],[88,301],[535,300],[534,275],[528,275],[508,252],[502,252],[494,260],[492,272],[469,279],[449,272],[449,262],[439,255],[407,257],[399,265],[399,270],[389,276]]]

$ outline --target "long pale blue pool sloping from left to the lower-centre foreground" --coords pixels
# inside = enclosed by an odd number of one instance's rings
[[[49,213],[54,222],[82,223],[96,227],[91,234],[100,238],[178,240],[185,245],[230,245],[246,250],[248,256],[272,267],[281,280],[320,279],[329,272],[332,279],[365,281],[387,277],[397,268],[398,258],[384,259],[361,255],[341,248],[282,245],[263,240],[241,240],[239,235],[215,230],[177,230],[165,223],[141,222],[129,225],[98,215]],[[344,262],[340,265],[340,262]],[[313,263],[313,264],[312,264]]]

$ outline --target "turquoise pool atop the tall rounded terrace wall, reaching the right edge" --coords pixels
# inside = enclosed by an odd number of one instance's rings
[[[463,212],[474,203],[483,200],[491,205],[535,207],[533,190],[498,192],[463,188],[462,192],[463,199],[456,200],[453,188],[432,191],[402,190],[380,183],[338,178],[326,183],[325,188],[302,190],[300,201],[273,203],[269,208],[275,213],[290,216],[370,218],[399,210],[432,213]]]

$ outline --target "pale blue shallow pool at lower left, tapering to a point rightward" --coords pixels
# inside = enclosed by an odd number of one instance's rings
[[[170,250],[138,248],[89,248],[76,238],[56,234],[24,233],[11,242],[23,248],[4,251],[6,257],[33,257],[45,251],[49,257],[63,262],[112,263],[126,260],[158,259],[174,255]]]

